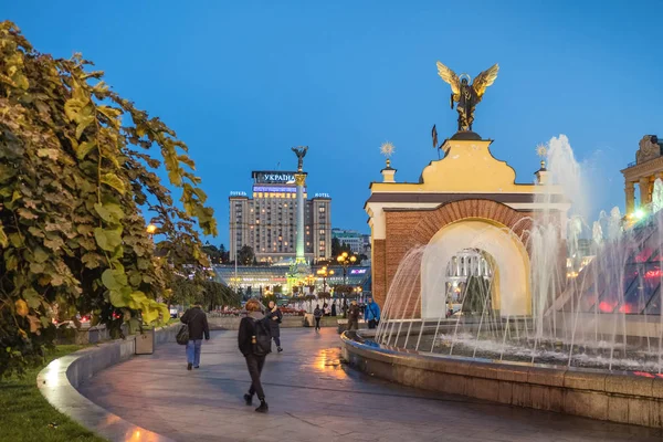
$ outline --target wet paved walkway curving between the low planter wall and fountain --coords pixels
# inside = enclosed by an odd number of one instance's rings
[[[284,329],[263,383],[270,413],[243,404],[249,388],[236,332],[214,332],[201,368],[183,348],[112,367],[81,386],[93,402],[176,441],[660,441],[661,433],[463,397],[429,394],[339,362],[336,330]]]

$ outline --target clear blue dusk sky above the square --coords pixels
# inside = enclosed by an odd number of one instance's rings
[[[190,147],[228,245],[228,197],[251,171],[296,167],[333,197],[335,227],[368,232],[364,202],[396,145],[415,181],[455,131],[439,60],[475,76],[499,63],[474,129],[518,182],[535,147],[566,134],[592,209],[623,208],[620,169],[645,134],[663,137],[661,1],[7,1],[41,52],[82,52],[106,82]]]

